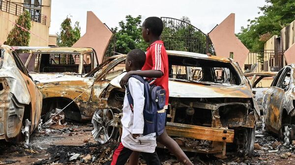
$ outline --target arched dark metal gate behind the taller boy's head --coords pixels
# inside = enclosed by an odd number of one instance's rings
[[[169,17],[161,17],[164,23],[162,40],[167,50],[214,54],[209,36],[192,24]]]

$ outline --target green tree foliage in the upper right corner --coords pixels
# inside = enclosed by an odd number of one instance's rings
[[[280,30],[295,20],[295,0],[266,0],[266,2],[266,5],[259,7],[263,15],[248,20],[247,27],[241,27],[241,32],[237,34],[248,49],[263,49],[264,43],[271,36],[280,35]]]

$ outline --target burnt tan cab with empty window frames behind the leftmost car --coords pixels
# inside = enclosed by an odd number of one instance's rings
[[[31,49],[26,67],[29,72],[35,73],[84,75],[97,67],[97,64],[98,59],[92,48],[47,47]]]

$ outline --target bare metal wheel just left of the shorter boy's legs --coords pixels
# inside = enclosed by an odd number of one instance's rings
[[[98,110],[92,117],[94,129],[92,136],[94,141],[104,144],[113,138],[115,134],[114,113],[111,109]]]

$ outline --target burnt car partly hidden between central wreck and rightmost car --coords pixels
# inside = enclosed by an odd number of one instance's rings
[[[262,100],[264,93],[270,87],[276,74],[277,72],[275,71],[251,72],[244,74],[244,76],[250,81],[252,92],[255,94],[255,99],[260,109],[260,115],[263,115]]]

